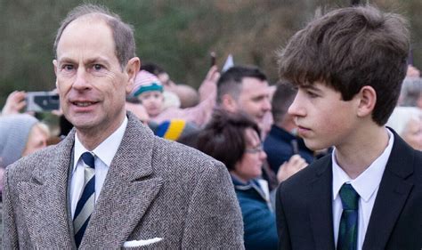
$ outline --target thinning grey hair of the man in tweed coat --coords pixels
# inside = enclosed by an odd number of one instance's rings
[[[86,15],[98,15],[106,21],[113,34],[115,53],[122,69],[125,69],[127,61],[135,56],[134,29],[131,25],[123,22],[118,14],[110,12],[107,8],[93,4],[82,4],[71,10],[66,18],[61,21],[61,27],[57,30],[54,40],[53,52],[57,59],[57,44],[61,39],[61,34],[69,23]]]

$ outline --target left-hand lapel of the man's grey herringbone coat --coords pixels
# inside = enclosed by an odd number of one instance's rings
[[[35,248],[72,246],[68,226],[67,180],[73,138],[70,134],[57,145],[48,164],[34,168],[30,181],[18,184],[20,204]]]

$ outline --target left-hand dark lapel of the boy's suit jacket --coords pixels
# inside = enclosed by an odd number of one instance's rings
[[[334,250],[331,156],[314,166],[317,173],[309,186],[308,211],[315,249]]]

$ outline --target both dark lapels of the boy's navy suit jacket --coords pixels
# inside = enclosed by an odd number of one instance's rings
[[[393,149],[379,185],[362,249],[385,248],[414,185],[410,175],[417,165],[415,150],[402,141],[397,133],[393,133]],[[335,249],[331,165],[331,157],[326,156],[312,166],[316,171],[309,187],[307,204],[315,249]]]

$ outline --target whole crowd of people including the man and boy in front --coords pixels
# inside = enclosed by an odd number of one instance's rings
[[[213,66],[196,91],[137,58],[118,15],[78,6],[54,42],[61,131],[24,112],[24,91],[0,115],[4,248],[420,248],[407,32],[398,15],[338,9],[291,38],[279,82]]]

